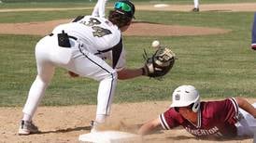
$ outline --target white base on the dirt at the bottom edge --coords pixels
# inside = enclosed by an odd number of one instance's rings
[[[142,137],[120,131],[99,131],[80,135],[82,143],[142,143]]]

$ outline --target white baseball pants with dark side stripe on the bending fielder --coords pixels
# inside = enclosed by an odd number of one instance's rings
[[[84,50],[70,38],[71,48],[58,45],[57,35],[46,36],[36,45],[37,76],[32,84],[23,112],[31,117],[45,94],[55,67],[78,73],[100,82],[97,95],[97,115],[108,115],[117,84],[117,72],[105,60]],[[85,95],[86,96],[86,95]]]

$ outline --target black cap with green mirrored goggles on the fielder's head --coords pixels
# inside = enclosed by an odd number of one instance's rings
[[[131,19],[135,18],[135,5],[129,0],[118,0],[114,5],[114,9]]]

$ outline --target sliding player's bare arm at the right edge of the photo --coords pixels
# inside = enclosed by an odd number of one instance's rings
[[[235,97],[235,99],[241,109],[246,110],[256,119],[256,109],[246,99],[242,97]]]

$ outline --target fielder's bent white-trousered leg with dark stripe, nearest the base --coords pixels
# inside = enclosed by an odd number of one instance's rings
[[[105,60],[94,56],[92,53],[85,50],[74,51],[74,53],[70,63],[64,68],[100,82],[95,121],[96,123],[104,123],[110,113],[117,84],[117,72]]]

